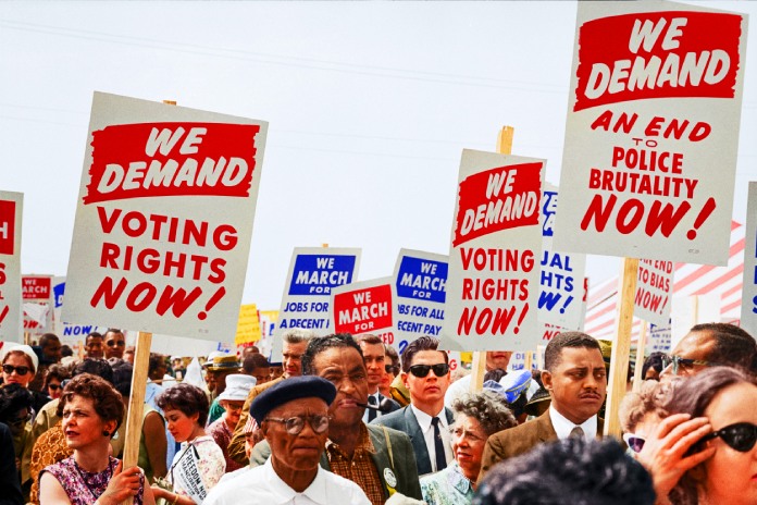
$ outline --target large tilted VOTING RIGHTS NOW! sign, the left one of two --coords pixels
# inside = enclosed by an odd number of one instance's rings
[[[266,130],[96,93],[63,320],[233,342]]]

